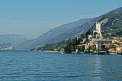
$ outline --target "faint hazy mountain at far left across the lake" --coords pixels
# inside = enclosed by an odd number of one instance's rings
[[[5,34],[0,35],[0,46],[12,46],[16,47],[18,44],[26,41],[27,39],[23,35]]]

